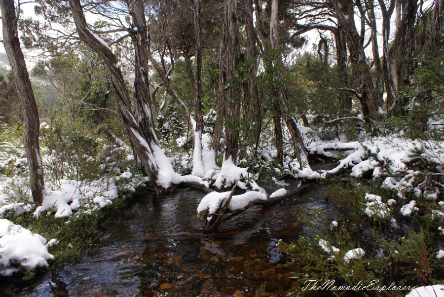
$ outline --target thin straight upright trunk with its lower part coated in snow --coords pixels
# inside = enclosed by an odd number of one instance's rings
[[[196,129],[194,130],[193,175],[205,175],[202,164],[202,131],[204,127],[202,105],[202,40],[200,30],[200,0],[193,0],[194,6],[194,36],[196,39],[196,53],[194,60],[194,114],[196,116]]]

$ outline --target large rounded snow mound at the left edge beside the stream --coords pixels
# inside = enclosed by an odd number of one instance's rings
[[[0,275],[11,276],[23,268],[48,266],[54,259],[38,234],[8,220],[0,219]]]

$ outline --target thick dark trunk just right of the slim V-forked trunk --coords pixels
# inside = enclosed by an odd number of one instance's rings
[[[416,12],[418,10],[418,0],[399,0],[400,9],[397,15],[397,31],[395,39],[390,48],[389,55],[396,61],[397,88],[409,86],[411,81],[412,58],[414,50],[414,25]],[[394,115],[404,115],[403,107],[407,104],[406,97],[398,97],[392,103],[390,111]]]

